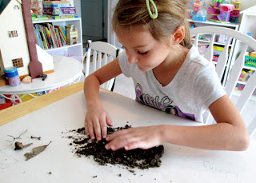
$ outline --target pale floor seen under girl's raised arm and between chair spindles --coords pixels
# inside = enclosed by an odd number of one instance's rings
[[[119,75],[116,78],[116,82],[114,85],[114,92],[122,94],[123,96],[130,97],[132,99],[135,99],[135,92],[134,92],[134,83],[131,78],[126,78],[123,74]],[[236,102],[238,100],[237,96],[231,97],[231,100]],[[250,121],[252,121],[253,117],[256,114],[256,101],[250,100],[248,101],[245,109],[242,111],[242,117],[244,121],[246,121],[249,124]],[[254,133],[254,136],[252,137],[254,140],[256,140],[256,133]]]

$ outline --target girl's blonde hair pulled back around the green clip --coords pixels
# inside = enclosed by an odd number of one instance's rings
[[[150,34],[159,42],[168,42],[170,35],[179,26],[185,27],[185,38],[180,43],[188,47],[190,41],[190,26],[186,21],[186,0],[154,0],[158,10],[158,18],[150,18],[146,8],[146,0],[119,0],[115,7],[112,27],[114,31],[119,26],[132,27],[146,25]],[[151,12],[154,7],[150,3]]]

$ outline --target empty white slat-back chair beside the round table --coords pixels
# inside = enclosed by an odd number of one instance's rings
[[[90,61],[90,56],[92,55],[92,62]],[[83,70],[85,74],[85,78],[93,73],[94,71],[98,70],[102,66],[112,62],[114,58],[118,56],[118,49],[110,43],[107,42],[91,42],[88,40],[88,50],[86,54],[84,54],[82,58],[82,63],[84,63],[86,59],[86,66]],[[90,66],[92,64],[92,66]],[[114,85],[114,78],[108,82],[102,84],[102,88],[106,90],[111,90],[112,86]]]

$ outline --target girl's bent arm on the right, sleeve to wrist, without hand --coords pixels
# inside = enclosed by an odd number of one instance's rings
[[[250,143],[250,135],[238,109],[225,95],[209,107],[217,124],[200,127],[168,127],[166,142],[200,149],[245,150]],[[179,135],[182,134],[182,135]]]

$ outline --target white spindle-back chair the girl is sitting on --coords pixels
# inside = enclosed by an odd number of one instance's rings
[[[242,72],[242,68],[245,63],[245,55],[248,47],[250,47],[250,50],[256,51],[256,40],[254,38],[251,38],[250,36],[243,34],[242,32],[238,32],[236,30],[220,27],[220,26],[201,26],[194,28],[190,30],[191,37],[194,37],[194,46],[198,46],[199,40],[199,34],[211,34],[210,43],[206,50],[206,53],[204,54],[204,57],[212,61],[213,58],[213,51],[214,51],[214,41],[216,35],[226,35],[227,41],[225,44],[225,47],[222,51],[222,54],[218,57],[218,62],[216,65],[216,72],[218,74],[218,77],[220,81],[222,81],[222,77],[224,74],[224,70],[226,69],[228,73],[228,76],[226,78],[226,85],[223,85],[224,89],[226,90],[226,93],[229,97],[231,97],[234,88],[238,82],[238,78]],[[228,59],[228,50],[230,46],[230,40],[233,38],[233,42],[239,42],[239,44],[242,44],[242,50],[233,63],[230,63],[231,59]],[[232,66],[233,65],[233,66]],[[239,96],[238,101],[236,103],[236,106],[238,107],[238,110],[240,113],[242,113],[242,109],[245,107],[247,101],[249,101],[250,96],[254,92],[256,86],[256,72],[250,77],[248,82],[246,82],[246,86],[244,90],[242,91],[242,94]],[[256,109],[256,106],[255,106]],[[209,110],[206,111],[204,115],[204,121],[208,123],[210,121],[210,112]],[[254,117],[254,121],[250,123],[248,126],[248,129],[250,131],[250,134],[254,132],[254,129],[256,128],[256,116]]]

